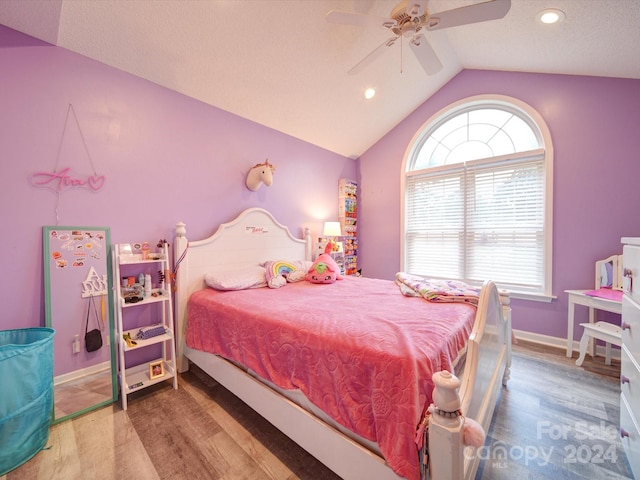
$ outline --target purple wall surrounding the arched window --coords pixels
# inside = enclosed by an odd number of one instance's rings
[[[547,122],[555,151],[557,300],[514,300],[513,325],[566,337],[564,290],[593,288],[594,262],[622,253],[622,236],[640,236],[640,80],[461,72],[359,159],[360,265],[365,275],[380,278],[393,278],[400,269],[400,237],[395,233],[400,228],[400,176],[413,135],[447,105],[491,93],[515,97],[536,109]],[[586,318],[586,309],[577,307],[576,320]]]

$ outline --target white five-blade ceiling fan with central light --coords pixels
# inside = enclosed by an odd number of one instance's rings
[[[329,23],[382,27],[393,33],[392,37],[375,48],[348,73],[354,75],[360,72],[384,53],[385,47],[391,47],[400,37],[405,37],[409,38],[409,46],[424,71],[427,75],[433,75],[440,71],[442,63],[422,33],[423,31],[497,20],[503,18],[511,8],[511,0],[489,0],[432,14],[427,8],[427,3],[428,0],[402,0],[391,10],[388,18],[339,10],[331,10],[327,13],[326,19]]]

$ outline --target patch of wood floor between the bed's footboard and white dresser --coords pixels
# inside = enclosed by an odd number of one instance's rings
[[[633,479],[619,438],[620,362],[520,342],[476,480]],[[504,458],[500,455],[504,454]]]

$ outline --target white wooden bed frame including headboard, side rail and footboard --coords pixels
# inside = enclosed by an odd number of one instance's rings
[[[187,302],[193,292],[205,287],[207,273],[278,258],[311,260],[311,247],[308,229],[305,229],[303,239],[296,238],[287,227],[260,208],[245,210],[235,220],[220,225],[212,236],[194,242],[187,240],[185,225],[179,223],[174,242],[179,371],[186,371],[188,362],[192,361],[345,480],[398,480],[400,477],[378,454],[232,363],[185,345]],[[495,285],[487,282],[481,292],[460,387],[463,414],[476,419],[485,431],[489,428],[501,387],[509,377],[510,363],[508,297],[501,297]],[[465,454],[460,423],[453,425],[444,417],[432,415],[429,447],[432,480],[474,478],[479,459],[468,452]]]

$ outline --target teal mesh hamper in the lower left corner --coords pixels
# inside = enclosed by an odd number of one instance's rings
[[[51,328],[0,331],[0,476],[47,443],[53,408]]]

